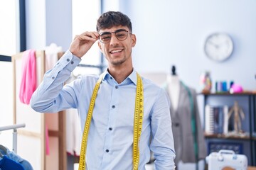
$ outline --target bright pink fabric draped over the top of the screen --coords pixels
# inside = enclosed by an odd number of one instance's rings
[[[29,104],[36,90],[36,51],[26,50],[22,56],[21,87],[19,98],[21,103]]]

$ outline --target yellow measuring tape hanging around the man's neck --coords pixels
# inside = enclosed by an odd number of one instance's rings
[[[87,113],[87,118],[85,122],[85,128],[82,135],[82,144],[79,159],[79,170],[85,170],[85,154],[87,148],[87,140],[90,129],[90,122],[92,120],[92,111],[95,106],[95,100],[97,97],[97,91],[99,90],[100,83],[103,79],[103,74],[97,80],[95,89],[92,92],[92,98],[90,101],[90,107]],[[139,137],[142,133],[142,120],[143,120],[143,84],[142,77],[137,73],[137,88],[136,88],[136,98],[135,98],[135,109],[134,109],[134,144],[133,144],[133,170],[137,170],[139,166]]]

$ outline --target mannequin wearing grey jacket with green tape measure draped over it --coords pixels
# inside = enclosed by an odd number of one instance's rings
[[[166,79],[166,91],[171,100],[171,122],[174,134],[176,169],[178,163],[196,163],[206,158],[206,142],[201,127],[196,90],[186,86],[178,78],[176,67]]]

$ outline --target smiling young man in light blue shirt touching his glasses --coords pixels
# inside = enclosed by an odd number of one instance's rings
[[[107,59],[107,70],[100,78],[85,75],[63,86],[96,41]],[[97,32],[75,36],[31,98],[31,107],[42,113],[78,108],[84,130],[81,167],[142,170],[151,151],[156,169],[175,169],[169,98],[164,89],[134,70],[135,45],[130,19],[120,12],[103,13]]]

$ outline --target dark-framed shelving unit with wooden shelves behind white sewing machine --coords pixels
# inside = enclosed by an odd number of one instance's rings
[[[206,130],[206,105],[210,106],[233,106],[234,101],[238,101],[240,108],[245,113],[245,119],[242,120],[242,130],[245,133],[234,135],[222,133],[205,133],[208,154],[217,152],[218,149],[233,149],[238,154],[245,154],[248,159],[248,165],[256,165],[256,94],[254,93],[216,93],[198,94],[203,96],[203,129]],[[229,124],[230,125],[230,124]],[[245,135],[246,134],[246,135]],[[225,148],[223,148],[225,147]]]

